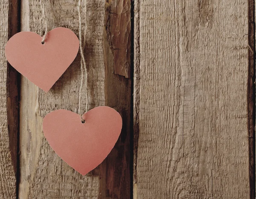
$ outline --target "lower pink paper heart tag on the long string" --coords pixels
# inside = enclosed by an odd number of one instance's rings
[[[120,114],[108,106],[86,112],[56,110],[44,117],[43,131],[49,145],[82,175],[96,168],[111,152],[122,129]]]

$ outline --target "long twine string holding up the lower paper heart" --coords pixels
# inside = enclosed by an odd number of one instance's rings
[[[81,13],[80,13],[80,6],[81,6],[81,0],[78,2],[78,17],[79,17],[79,44],[80,44],[80,54],[81,54],[81,83],[79,88],[79,100],[78,100],[78,111],[80,116],[82,116],[83,113],[81,113],[81,91],[82,86],[85,82],[85,97],[86,97],[86,103],[85,103],[85,111],[88,111],[88,95],[87,95],[87,68],[86,68],[86,62],[84,58],[84,52],[83,52],[83,45],[82,45],[82,28],[81,28]],[[85,13],[86,13],[86,6],[85,6]],[[86,32],[87,24],[85,20],[84,24],[84,31]],[[84,123],[84,120],[81,117],[82,122]]]

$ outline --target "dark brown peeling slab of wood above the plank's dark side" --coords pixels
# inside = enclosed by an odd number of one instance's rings
[[[131,0],[109,0],[108,40],[114,55],[114,72],[131,77]]]

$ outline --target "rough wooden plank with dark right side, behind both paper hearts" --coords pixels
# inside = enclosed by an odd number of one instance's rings
[[[108,105],[119,111],[123,118],[121,136],[107,159],[86,176],[81,176],[52,151],[42,132],[43,117],[50,111],[60,108],[78,111],[80,54],[47,94],[22,77],[20,198],[130,198],[131,80],[113,73],[115,62],[108,38],[116,32],[109,30],[112,23],[108,22],[113,20],[109,11],[114,9],[114,5],[119,5],[115,2],[110,1],[105,4],[104,0],[81,1],[81,23],[82,35],[85,35],[83,43],[88,70],[89,109]],[[78,1],[60,0],[43,3],[48,30],[63,26],[70,28],[78,35]],[[127,9],[125,13],[130,13],[129,8],[125,8]],[[40,23],[41,15],[40,1],[23,0],[21,3],[22,31],[30,30],[44,34],[44,21]],[[130,20],[130,18],[123,17],[122,20]],[[86,32],[84,32],[85,21],[87,21]],[[124,22],[130,26],[130,23]],[[121,31],[121,35],[124,34],[126,35]],[[126,40],[128,41],[127,38]],[[126,45],[127,50],[130,49],[130,43],[127,42]],[[128,63],[129,60],[126,62]],[[85,111],[84,86],[81,96],[81,108]]]

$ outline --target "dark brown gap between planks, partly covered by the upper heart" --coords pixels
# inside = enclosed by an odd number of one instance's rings
[[[20,32],[20,0],[9,0],[8,39]],[[16,198],[20,179],[19,170],[19,101],[20,101],[20,74],[7,63],[7,124],[9,131],[9,148],[12,164],[16,174]]]

